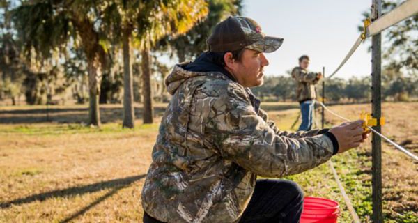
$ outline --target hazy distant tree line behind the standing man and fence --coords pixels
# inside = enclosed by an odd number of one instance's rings
[[[295,79],[291,75],[268,76],[263,86],[253,92],[263,101],[295,100]],[[322,83],[316,88],[318,98],[322,97]],[[325,100],[328,102],[369,102],[371,98],[371,77],[333,78],[325,82]],[[382,75],[382,99],[387,101],[418,100],[418,75],[403,75],[394,70],[384,70]]]

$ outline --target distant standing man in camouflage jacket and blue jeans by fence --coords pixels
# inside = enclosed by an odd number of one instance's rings
[[[322,78],[320,72],[308,72],[309,56],[299,58],[299,66],[293,68],[292,77],[296,80],[296,98],[300,104],[302,123],[298,131],[309,131],[314,123],[314,105],[316,99],[315,84]]]

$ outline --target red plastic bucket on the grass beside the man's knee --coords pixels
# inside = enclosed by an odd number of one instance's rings
[[[305,197],[300,223],[336,223],[339,203],[320,197]]]

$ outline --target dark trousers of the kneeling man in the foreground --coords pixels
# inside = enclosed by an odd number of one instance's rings
[[[290,180],[257,180],[254,193],[240,223],[297,223],[303,208],[303,193]],[[144,213],[144,223],[160,223]],[[214,222],[215,223],[215,222]]]

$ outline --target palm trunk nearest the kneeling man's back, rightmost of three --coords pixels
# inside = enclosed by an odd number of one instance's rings
[[[151,95],[151,80],[150,80],[150,51],[145,48],[142,51],[142,95],[144,95],[144,112],[143,120],[145,123],[153,123],[153,97]]]

